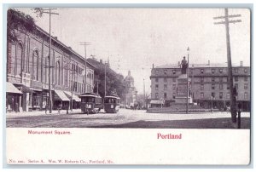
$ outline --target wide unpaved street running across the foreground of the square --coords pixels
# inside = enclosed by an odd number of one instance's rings
[[[118,113],[67,114],[53,112],[7,113],[6,126],[12,128],[145,128],[145,129],[236,129],[230,113],[197,114],[147,113],[145,110],[120,109]],[[250,113],[241,112],[241,129],[250,129]]]

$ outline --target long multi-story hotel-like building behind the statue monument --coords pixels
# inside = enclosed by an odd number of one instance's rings
[[[243,110],[250,109],[250,67],[232,66],[233,83],[236,87],[236,103]],[[165,100],[166,106],[175,102],[177,77],[181,75],[180,64],[153,67],[151,71],[151,99]],[[193,101],[200,106],[223,109],[230,104],[227,64],[189,65],[190,89]]]

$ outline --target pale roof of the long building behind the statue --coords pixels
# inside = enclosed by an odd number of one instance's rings
[[[232,67],[239,67],[240,65],[232,64]],[[189,64],[189,68],[204,68],[204,67],[228,67],[227,63],[211,63],[211,64]],[[247,67],[247,66],[242,66]],[[180,68],[177,64],[167,64],[162,66],[155,66],[154,68]]]

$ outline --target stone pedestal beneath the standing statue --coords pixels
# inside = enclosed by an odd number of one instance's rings
[[[191,79],[189,78],[189,82]],[[187,103],[188,95],[188,78],[187,74],[182,74],[177,77],[177,96],[175,98],[176,103],[185,104]],[[189,103],[192,103],[192,97],[189,95]]]

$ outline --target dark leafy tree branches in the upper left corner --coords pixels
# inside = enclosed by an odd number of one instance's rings
[[[24,14],[16,9],[8,9],[7,11],[7,40],[10,43],[17,42],[17,30],[26,32],[35,32],[36,25],[32,16]]]

